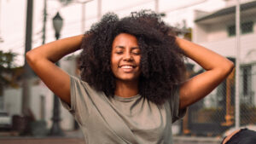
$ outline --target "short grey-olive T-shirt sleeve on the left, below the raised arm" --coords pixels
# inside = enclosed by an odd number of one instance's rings
[[[88,117],[90,113],[90,86],[79,78],[70,76],[70,105],[61,101],[63,107],[69,111],[76,120],[81,123],[81,119]]]

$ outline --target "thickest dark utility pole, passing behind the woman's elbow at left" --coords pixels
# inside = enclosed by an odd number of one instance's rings
[[[33,0],[27,0],[26,6],[26,43],[25,55],[32,49],[32,12]],[[24,64],[23,84],[22,84],[22,114],[23,116],[30,116],[30,79],[32,78],[32,70],[28,66],[26,59]]]

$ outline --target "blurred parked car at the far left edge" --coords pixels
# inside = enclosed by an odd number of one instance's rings
[[[12,128],[12,118],[9,116],[8,112],[0,111],[0,130],[11,130]]]

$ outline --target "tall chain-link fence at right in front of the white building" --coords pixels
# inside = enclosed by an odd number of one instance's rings
[[[256,127],[256,1],[240,4],[240,37],[236,39],[236,6],[226,7],[206,14],[195,20],[192,35],[195,43],[209,47],[220,55],[232,60],[236,70],[224,80],[218,88],[203,100],[189,107],[183,118],[181,134],[183,135],[223,135],[225,131],[236,127]],[[236,44],[240,46],[236,55]],[[216,49],[215,49],[215,48]],[[193,64],[187,64],[189,76],[193,77],[203,70],[195,71]],[[239,90],[236,90],[238,84]],[[238,91],[238,105],[236,93]],[[236,107],[239,111],[236,111]],[[238,113],[236,113],[238,112]],[[239,116],[236,118],[236,115]]]

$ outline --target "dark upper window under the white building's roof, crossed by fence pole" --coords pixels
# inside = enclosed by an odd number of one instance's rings
[[[253,21],[241,23],[241,34],[253,32]],[[230,37],[236,36],[236,26],[228,26],[228,34]]]

